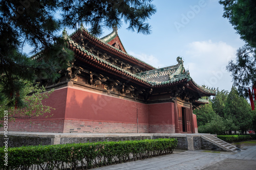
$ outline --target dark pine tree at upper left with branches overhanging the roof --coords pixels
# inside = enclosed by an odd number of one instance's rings
[[[6,0],[0,1],[0,100],[22,106],[20,82],[45,79],[55,82],[58,71],[69,67],[73,53],[59,35],[63,27],[75,28],[84,22],[99,35],[102,28],[120,27],[122,19],[129,30],[149,34],[146,22],[156,12],[151,0]],[[23,53],[29,44],[32,59]],[[13,106],[14,103],[8,103]]]

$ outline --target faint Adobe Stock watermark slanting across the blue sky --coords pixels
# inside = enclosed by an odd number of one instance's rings
[[[201,11],[201,8],[204,8],[206,7],[206,3],[204,0],[200,0],[198,2],[198,5],[194,5],[194,6],[189,6],[189,8],[191,10],[187,11],[186,14],[181,14],[181,21],[180,22],[177,22],[175,21],[174,22],[174,26],[176,28],[176,30],[178,32],[180,32],[180,29],[181,28],[184,28],[186,25],[188,25],[188,23],[190,22],[191,19],[195,18],[196,14],[198,14],[200,11]]]

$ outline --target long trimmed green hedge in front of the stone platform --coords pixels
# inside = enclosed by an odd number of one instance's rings
[[[39,145],[8,149],[8,166],[1,169],[88,169],[173,153],[177,139],[145,139]],[[0,154],[5,155],[4,148]]]

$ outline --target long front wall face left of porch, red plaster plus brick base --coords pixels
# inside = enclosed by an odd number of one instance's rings
[[[147,133],[147,112],[146,104],[69,87],[63,132]]]

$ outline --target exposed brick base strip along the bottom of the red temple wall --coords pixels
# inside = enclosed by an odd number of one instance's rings
[[[0,131],[4,131],[1,127]],[[55,133],[175,133],[175,125],[148,125],[91,120],[16,120],[8,131]]]

